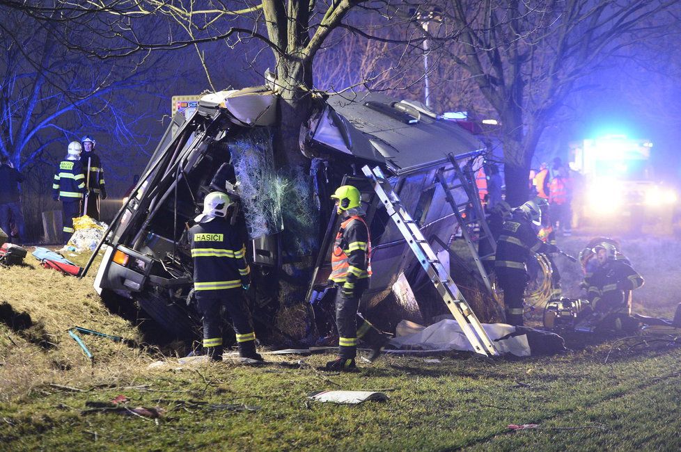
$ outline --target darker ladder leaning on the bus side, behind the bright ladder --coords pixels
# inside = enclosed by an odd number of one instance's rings
[[[478,195],[478,190],[474,181],[460,168],[454,154],[448,154],[448,158],[451,162],[451,168],[439,168],[437,170],[437,180],[442,186],[445,198],[461,226],[461,234],[468,245],[473,261],[475,261],[476,267],[478,268],[478,272],[483,278],[483,283],[487,288],[487,292],[492,293],[492,282],[490,281],[490,275],[488,275],[485,270],[485,266],[483,266],[483,259],[494,256],[494,253],[496,252],[496,241],[494,241],[492,232],[490,232],[490,226],[487,225],[487,220],[485,220],[485,211],[483,211],[483,204],[480,203],[480,196]],[[451,176],[452,172],[455,177],[448,177],[448,175]],[[448,182],[448,180],[451,179],[454,179],[455,181],[453,184]],[[466,195],[465,198],[458,201],[455,199],[453,193],[457,188],[462,188],[463,193]],[[474,216],[471,216],[472,218],[464,218],[460,209],[469,205],[473,208]],[[473,223],[478,223],[478,225],[480,225],[480,235],[477,239],[471,237],[469,226]],[[478,253],[479,248],[476,246],[480,241],[487,241],[489,244],[488,249],[492,250],[492,252],[480,256]]]

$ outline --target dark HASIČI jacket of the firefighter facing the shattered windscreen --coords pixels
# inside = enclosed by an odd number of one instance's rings
[[[250,283],[246,248],[225,218],[200,223],[187,234],[194,259],[196,298],[222,298],[229,289]]]

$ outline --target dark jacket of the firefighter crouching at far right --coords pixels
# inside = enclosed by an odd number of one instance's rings
[[[609,259],[589,278],[591,309],[604,311],[627,306],[627,294],[643,286],[643,277],[623,261]]]

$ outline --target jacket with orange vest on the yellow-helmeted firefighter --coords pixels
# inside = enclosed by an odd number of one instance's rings
[[[336,234],[331,252],[331,275],[329,280],[342,282],[348,289],[354,289],[354,282],[371,275],[371,243],[369,230],[364,218],[351,215]]]

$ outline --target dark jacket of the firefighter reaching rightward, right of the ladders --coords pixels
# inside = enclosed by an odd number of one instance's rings
[[[555,252],[556,246],[538,239],[524,213],[515,211],[510,220],[503,223],[501,235],[496,241],[496,268],[517,268],[525,270],[531,253]]]

